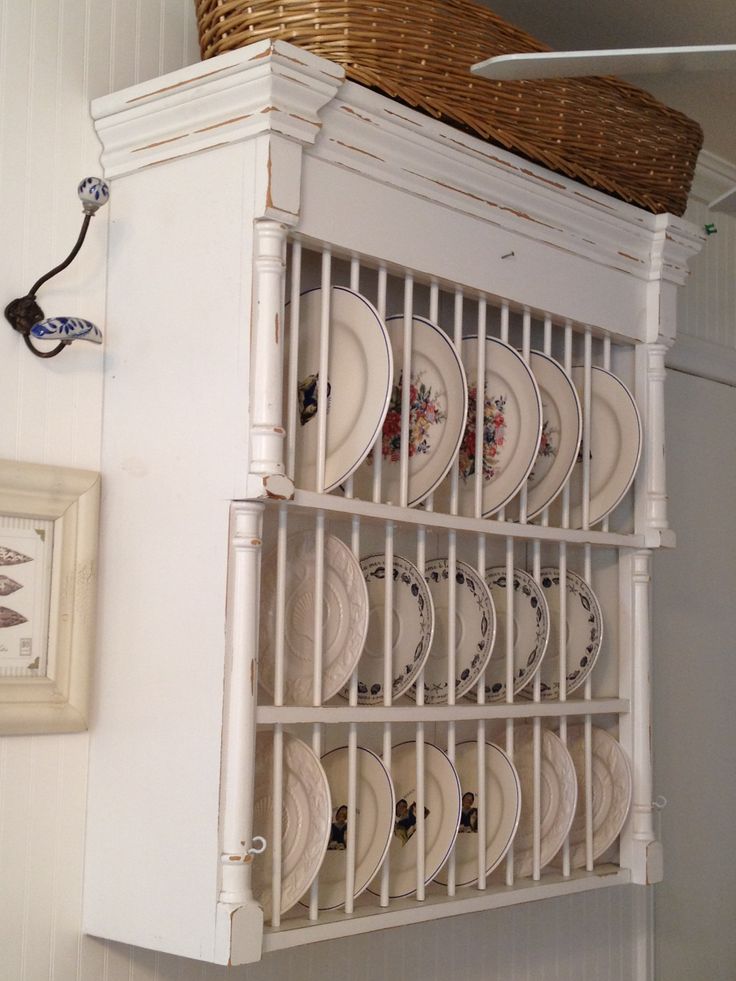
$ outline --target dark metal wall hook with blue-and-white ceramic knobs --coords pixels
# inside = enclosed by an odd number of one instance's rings
[[[53,358],[60,354],[65,347],[68,347],[72,341],[78,339],[92,341],[95,344],[102,343],[102,331],[91,321],[82,320],[81,317],[49,317],[46,319],[43,310],[36,302],[36,294],[43,284],[66,269],[76,258],[87,236],[87,229],[92,216],[108,202],[110,188],[99,177],[85,177],[77,188],[77,195],[82,202],[84,220],[74,248],[63,262],[37,279],[25,296],[11,300],[5,307],[5,319],[14,330],[23,335],[26,347],[37,358]],[[40,340],[57,338],[59,344],[50,351],[42,351],[34,346],[32,337]]]

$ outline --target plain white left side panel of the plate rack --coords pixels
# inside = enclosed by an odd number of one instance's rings
[[[84,929],[204,959],[228,510],[247,471],[252,172],[241,144],[112,190]]]

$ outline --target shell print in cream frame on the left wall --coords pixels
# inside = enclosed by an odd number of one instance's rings
[[[0,735],[87,728],[99,474],[0,460]]]

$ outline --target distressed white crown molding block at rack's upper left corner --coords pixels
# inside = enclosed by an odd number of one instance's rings
[[[261,41],[92,102],[108,178],[260,133],[313,143],[344,71]]]

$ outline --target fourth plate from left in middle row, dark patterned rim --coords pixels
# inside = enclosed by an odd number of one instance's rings
[[[486,585],[502,624],[495,655],[486,668],[486,701],[500,702],[506,698],[506,566],[487,569]],[[514,695],[517,695],[539,670],[549,640],[547,600],[534,577],[523,569],[514,569],[513,629]]]

